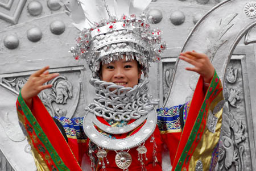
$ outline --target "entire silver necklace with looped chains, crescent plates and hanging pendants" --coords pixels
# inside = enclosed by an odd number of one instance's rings
[[[94,103],[88,106],[83,126],[86,136],[98,147],[97,157],[101,161],[99,164],[102,164],[103,169],[106,168],[104,159],[106,161],[108,159],[106,158],[107,152],[105,149],[109,149],[117,153],[115,163],[118,168],[127,170],[132,161],[129,150],[139,146],[137,148],[138,160],[141,162],[143,169],[143,155],[147,161],[147,148],[144,146],[144,142],[155,130],[157,115],[154,105],[158,103],[158,100],[152,99],[151,95],[147,93],[148,81],[143,80],[133,88],[118,86],[112,82],[95,78],[92,78],[90,83],[96,87],[96,97]],[[112,119],[115,122],[122,120],[128,122],[130,119],[137,120],[123,127],[111,127],[101,123],[96,116],[105,120]],[[108,134],[125,134],[133,131],[143,122],[144,124],[138,132],[124,139],[111,139],[95,128],[97,126]]]

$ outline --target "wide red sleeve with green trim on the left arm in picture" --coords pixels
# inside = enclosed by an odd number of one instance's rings
[[[35,97],[32,102],[29,109],[19,94],[16,108],[38,170],[81,170],[77,140],[68,144],[40,99]]]

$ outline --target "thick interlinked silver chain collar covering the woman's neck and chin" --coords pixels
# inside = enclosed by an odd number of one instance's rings
[[[96,97],[93,99],[94,103],[88,106],[88,110],[96,116],[116,122],[141,118],[159,102],[159,99],[152,99],[147,93],[148,82],[146,79],[142,80],[131,88],[91,78],[90,84],[96,87]]]

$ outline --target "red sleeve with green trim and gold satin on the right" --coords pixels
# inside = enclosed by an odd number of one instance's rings
[[[216,72],[206,93],[203,86],[203,77],[200,77],[191,106],[184,109],[189,108],[189,111],[187,118],[184,118],[182,131],[178,126],[174,129],[176,122],[173,118],[177,115],[175,112],[169,114],[172,117],[171,124],[167,124],[169,128],[165,131],[160,128],[162,139],[170,151],[172,170],[195,170],[199,164],[204,166],[203,170],[213,170],[216,165],[222,121],[220,106],[224,101],[221,81]],[[214,113],[214,109],[218,112]],[[214,129],[211,130],[208,124]]]

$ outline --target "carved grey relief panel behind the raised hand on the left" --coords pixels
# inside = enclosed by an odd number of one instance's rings
[[[84,116],[85,101],[81,84],[82,68],[77,66],[50,70],[50,72],[59,72],[60,76],[46,82],[46,84],[52,84],[52,87],[41,91],[38,97],[51,116],[67,116],[68,118]],[[4,85],[19,92],[30,75],[26,72],[2,76],[1,82]]]

